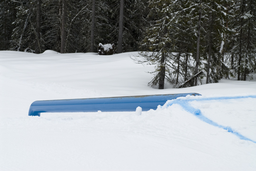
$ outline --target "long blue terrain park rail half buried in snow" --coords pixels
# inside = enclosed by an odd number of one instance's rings
[[[28,111],[28,116],[39,116],[44,112],[130,112],[141,107],[142,111],[163,106],[167,100],[179,97],[201,96],[198,93],[162,94],[148,96],[127,96],[90,99],[62,99],[34,101]]]

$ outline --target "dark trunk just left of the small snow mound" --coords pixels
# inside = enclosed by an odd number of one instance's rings
[[[41,0],[37,0],[37,37],[38,39],[36,40],[36,50],[35,50],[35,53],[36,54],[40,54],[40,38],[41,38],[41,34],[40,34],[40,31],[41,31]]]

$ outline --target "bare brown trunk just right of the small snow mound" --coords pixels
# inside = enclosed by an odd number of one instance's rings
[[[64,54],[65,51],[65,41],[66,41],[66,30],[65,30],[65,25],[66,25],[66,0],[62,0],[62,22],[61,22],[61,49],[60,53]]]

